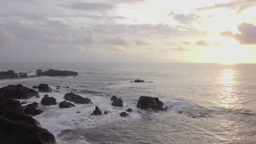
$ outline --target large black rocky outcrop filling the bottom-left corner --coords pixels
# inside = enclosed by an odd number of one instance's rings
[[[1,143],[56,143],[53,134],[41,128],[39,122],[22,111],[20,101],[1,101],[0,113]]]

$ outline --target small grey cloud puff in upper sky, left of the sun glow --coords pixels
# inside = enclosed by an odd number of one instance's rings
[[[196,14],[176,14],[174,12],[171,12],[168,14],[168,16],[172,16],[173,19],[177,20],[180,23],[186,24],[186,25],[188,25],[192,22],[197,22],[197,21],[199,21],[199,19],[201,19],[201,17]]]

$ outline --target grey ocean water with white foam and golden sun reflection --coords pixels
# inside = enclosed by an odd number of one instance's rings
[[[57,102],[67,92],[90,98],[93,104],[69,109],[39,106],[44,112],[34,118],[57,143],[256,143],[256,64],[0,63],[0,71],[50,68],[79,76],[1,80],[0,87],[47,83],[70,87],[49,93]],[[146,82],[130,82],[135,79]],[[39,102],[45,93],[39,94],[28,101]],[[112,107],[112,95],[123,99],[124,107]],[[143,95],[158,97],[168,110],[138,109]],[[109,114],[90,115],[95,106]],[[129,107],[133,112],[120,117]]]

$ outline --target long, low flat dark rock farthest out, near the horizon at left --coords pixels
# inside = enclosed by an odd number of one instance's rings
[[[44,71],[44,76],[77,76],[78,73],[74,71],[67,71],[67,70],[54,70],[49,69],[47,71]]]

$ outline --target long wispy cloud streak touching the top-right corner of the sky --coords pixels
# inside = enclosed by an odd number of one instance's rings
[[[254,7],[256,5],[255,0],[238,0],[230,1],[228,3],[214,4],[210,7],[198,8],[197,10],[207,10],[207,9],[218,9],[218,8],[227,8],[227,9],[237,9],[239,12]]]

